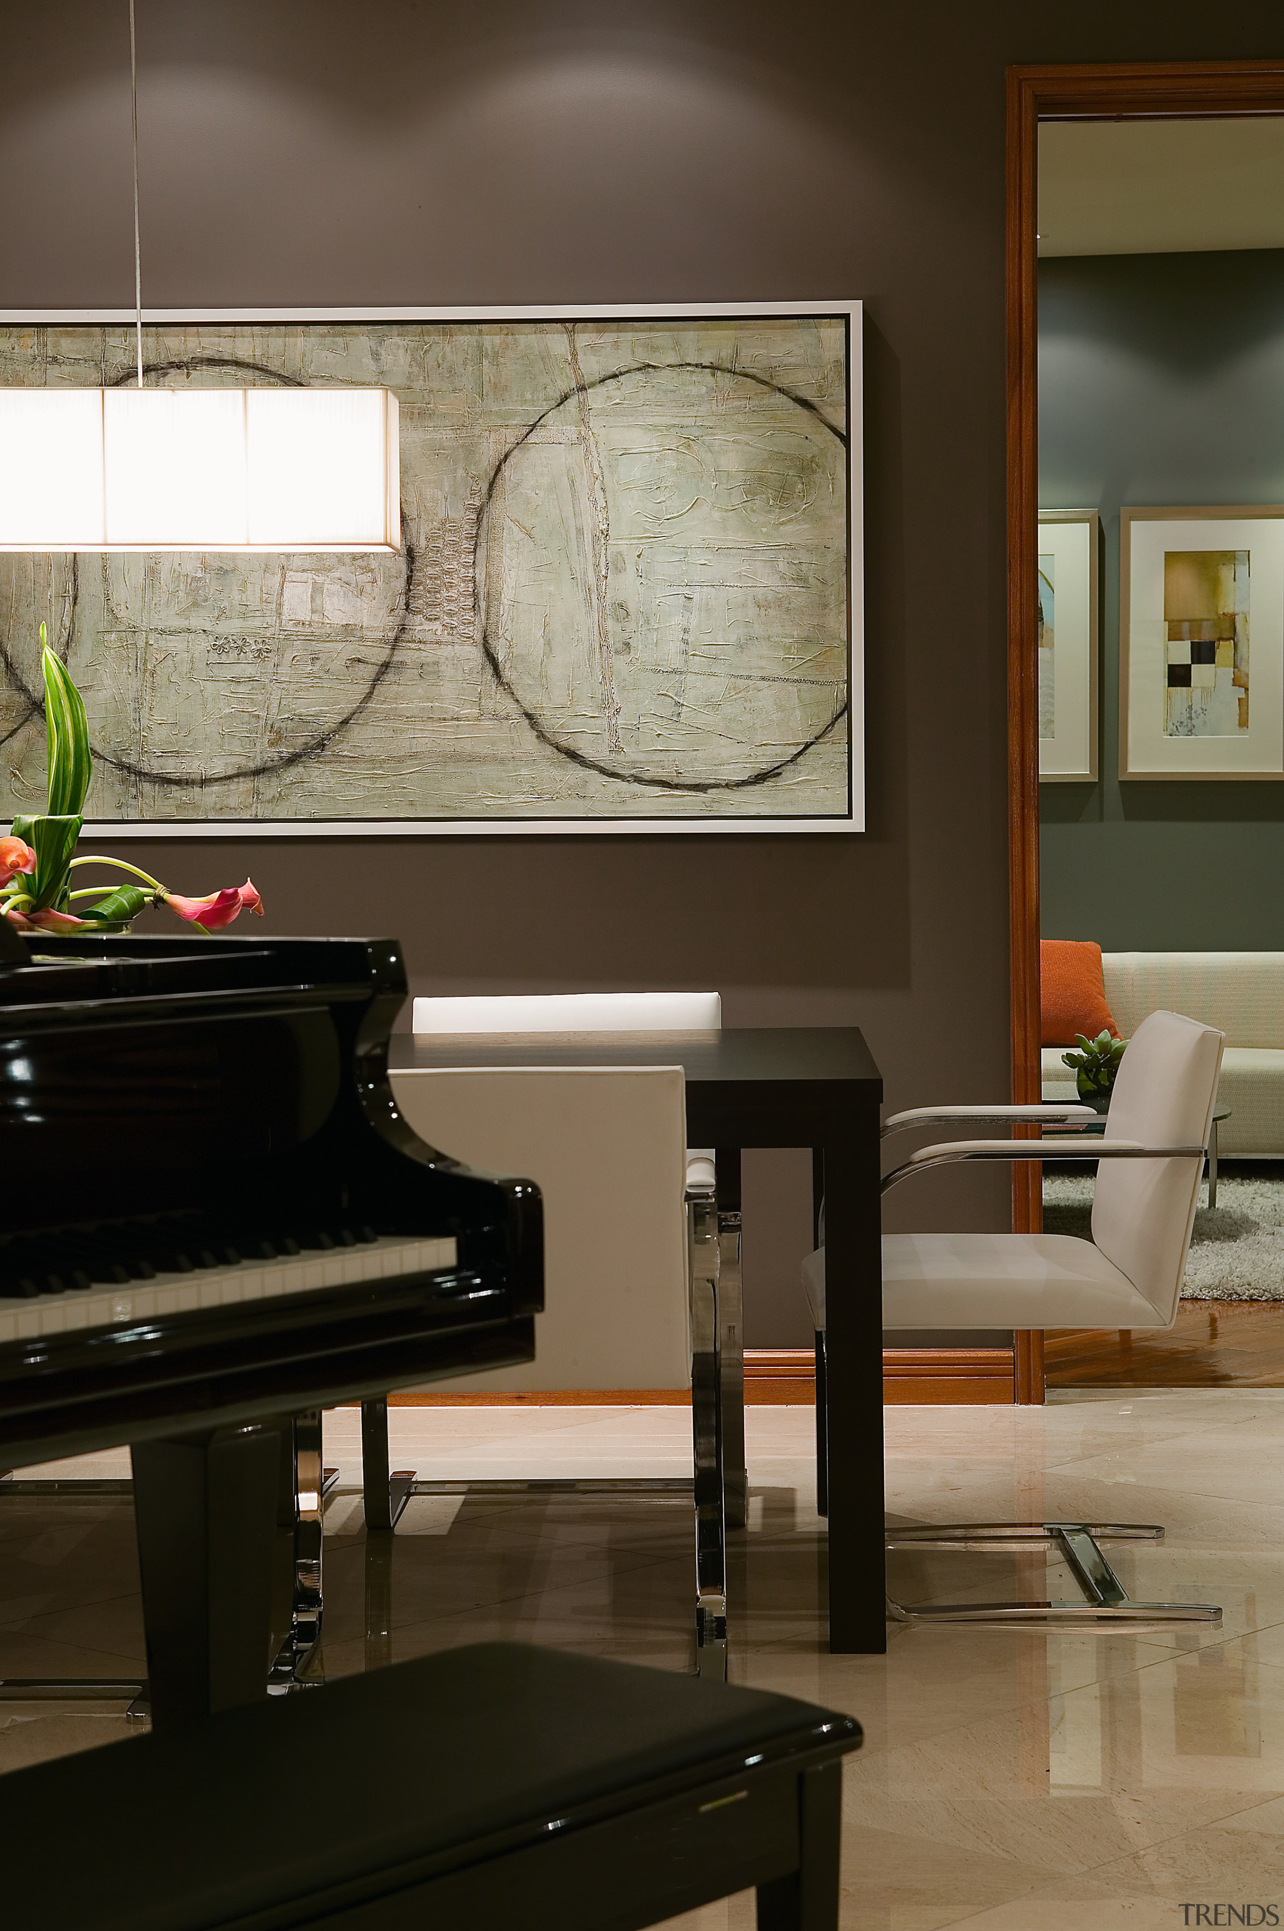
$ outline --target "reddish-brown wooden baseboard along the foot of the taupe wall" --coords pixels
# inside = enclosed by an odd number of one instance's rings
[[[556,1388],[535,1394],[390,1394],[394,1408],[687,1408],[685,1388]],[[745,1406],[815,1406],[811,1348],[745,1348]],[[884,1348],[884,1402],[1016,1400],[1012,1348]]]

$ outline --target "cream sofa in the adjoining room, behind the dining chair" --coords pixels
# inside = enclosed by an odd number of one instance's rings
[[[1284,1161],[1284,952],[1103,952],[1106,1004],[1124,1039],[1149,1012],[1226,1033],[1220,1157]],[[1068,1047],[1043,1049],[1045,1099],[1074,1095]]]

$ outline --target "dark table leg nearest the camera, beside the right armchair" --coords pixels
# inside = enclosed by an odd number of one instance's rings
[[[882,1508],[882,1228],[879,1112],[824,1141],[824,1390],[828,1456],[828,1639],[886,1651]],[[844,1122],[844,1126],[848,1126]]]

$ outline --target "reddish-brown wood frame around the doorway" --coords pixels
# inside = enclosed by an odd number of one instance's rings
[[[1012,1099],[1041,1097],[1039,1025],[1039,122],[1284,114],[1284,62],[1008,68],[1008,881]],[[1043,1168],[1012,1180],[1012,1224],[1043,1226]],[[1043,1402],[1043,1334],[1016,1336],[1016,1398]]]

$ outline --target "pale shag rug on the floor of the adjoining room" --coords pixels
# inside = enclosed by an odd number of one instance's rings
[[[1222,1162],[1216,1207],[1205,1207],[1207,1197],[1201,1180],[1182,1300],[1284,1301],[1284,1164]],[[1045,1234],[1091,1240],[1091,1180],[1045,1172]]]

